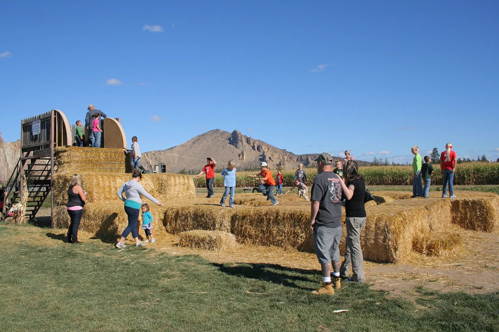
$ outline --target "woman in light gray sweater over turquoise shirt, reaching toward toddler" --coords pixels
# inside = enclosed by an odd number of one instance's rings
[[[146,189],[140,184],[142,180],[142,173],[139,170],[134,170],[132,179],[126,181],[119,189],[116,194],[122,201],[125,202],[125,212],[128,216],[128,226],[125,228],[121,234],[121,239],[116,243],[117,248],[125,248],[125,238],[132,232],[132,236],[135,239],[135,245],[137,247],[145,246],[142,241],[139,240],[139,232],[137,231],[137,224],[139,222],[140,208],[142,207],[141,195],[145,196],[147,199],[153,201],[157,205],[162,205],[159,200],[151,196]],[[125,192],[125,197],[123,197],[123,191]]]

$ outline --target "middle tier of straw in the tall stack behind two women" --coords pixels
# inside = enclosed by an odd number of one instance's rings
[[[67,202],[67,188],[73,172],[57,171],[53,177],[54,202]],[[131,179],[127,173],[79,173],[83,189],[87,192],[87,201],[119,201],[116,190]],[[194,181],[187,175],[161,173],[144,174],[140,182],[153,197],[163,201],[176,197],[193,198],[196,195]]]

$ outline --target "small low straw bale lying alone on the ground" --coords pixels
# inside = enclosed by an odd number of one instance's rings
[[[221,231],[192,230],[180,233],[179,246],[222,251],[235,248],[236,237]]]

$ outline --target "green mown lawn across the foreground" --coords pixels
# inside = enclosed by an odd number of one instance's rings
[[[9,331],[498,331],[499,296],[417,289],[415,302],[349,284],[314,296],[318,271],[0,226],[0,326]],[[250,292],[250,293],[248,293]],[[416,304],[417,303],[417,304]],[[337,309],[349,312],[333,314]]]

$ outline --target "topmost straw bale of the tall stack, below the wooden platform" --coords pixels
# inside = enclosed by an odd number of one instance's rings
[[[56,147],[54,162],[58,171],[125,172],[123,149]]]

